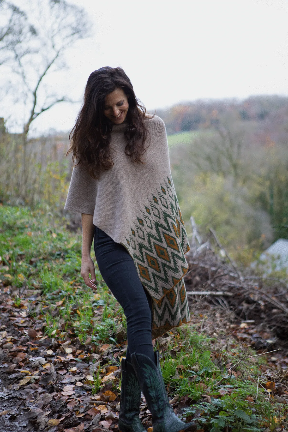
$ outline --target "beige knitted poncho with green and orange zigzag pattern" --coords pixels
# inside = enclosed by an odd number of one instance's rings
[[[153,300],[155,338],[190,321],[183,280],[190,247],[171,178],[165,124],[157,116],[145,123],[151,140],[142,156],[146,163],[125,154],[127,124],[114,125],[114,165],[98,180],[79,165],[73,168],[65,209],[93,215],[94,225],[133,257]]]

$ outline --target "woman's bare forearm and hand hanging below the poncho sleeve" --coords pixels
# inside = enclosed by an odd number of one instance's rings
[[[97,289],[95,285],[95,267],[90,256],[91,246],[94,235],[93,216],[82,213],[82,260],[81,260],[81,276],[87,286],[92,289]],[[91,274],[91,279],[89,278]]]

